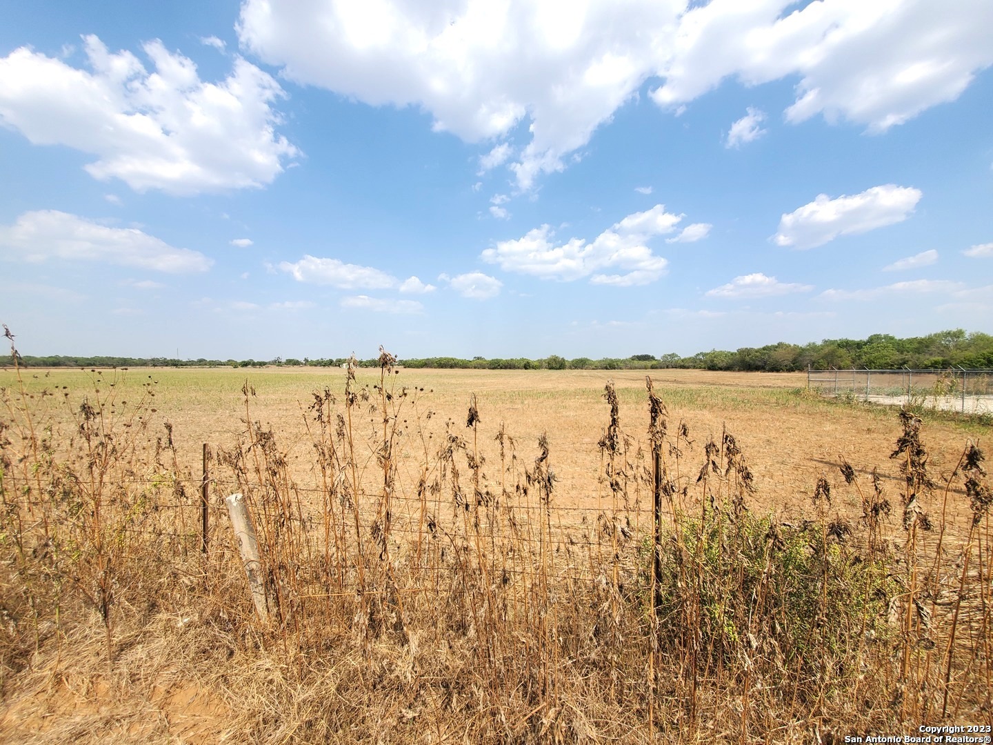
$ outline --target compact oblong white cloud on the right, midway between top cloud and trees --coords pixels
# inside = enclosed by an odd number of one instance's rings
[[[920,189],[894,184],[833,200],[820,194],[813,202],[783,215],[774,240],[792,248],[814,248],[839,235],[902,223],[914,212],[921,197]]]

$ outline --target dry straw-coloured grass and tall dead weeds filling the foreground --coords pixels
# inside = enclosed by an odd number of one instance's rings
[[[829,742],[989,721],[977,445],[934,483],[905,412],[902,514],[842,458],[814,519],[780,522],[755,509],[731,432],[669,421],[649,379],[641,440],[609,384],[587,519],[557,504],[548,438],[481,438],[475,396],[439,422],[395,362],[314,392],[307,483],[245,383],[242,432],[213,453],[207,553],[202,485],[152,423],[153,382],[125,401],[122,373],[91,373],[81,397],[19,374],[0,416],[0,736]],[[251,511],[267,623],[229,491]]]

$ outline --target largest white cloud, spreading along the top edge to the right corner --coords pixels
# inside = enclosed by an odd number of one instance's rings
[[[728,77],[795,78],[787,121],[821,114],[883,131],[954,100],[993,64],[989,0],[794,5],[244,0],[237,33],[289,79],[370,105],[418,106],[435,130],[468,142],[526,125],[516,155],[501,143],[480,163],[508,163],[525,190],[563,170],[646,80],[651,98],[679,113]]]

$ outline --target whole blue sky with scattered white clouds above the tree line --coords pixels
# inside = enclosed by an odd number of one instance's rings
[[[22,354],[993,331],[988,0],[0,1]]]

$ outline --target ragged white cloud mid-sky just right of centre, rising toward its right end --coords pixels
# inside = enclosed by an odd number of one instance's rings
[[[656,235],[673,232],[680,220],[681,215],[666,213],[663,205],[655,205],[629,215],[592,241],[574,237],[565,242],[555,240],[554,231],[545,224],[523,237],[497,242],[481,257],[504,271],[541,279],[571,282],[590,277],[593,284],[647,284],[665,273],[668,262],[645,243]]]

